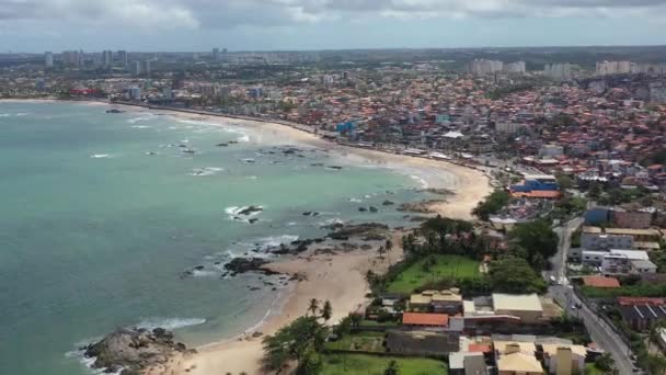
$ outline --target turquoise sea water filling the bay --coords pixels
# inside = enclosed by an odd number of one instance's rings
[[[166,326],[190,344],[241,332],[279,291],[221,280],[215,262],[335,219],[404,224],[381,202],[422,197],[406,175],[284,155],[251,129],[104,111],[0,103],[0,374],[89,374],[77,346],[118,326]],[[358,212],[370,204],[381,212]],[[264,207],[259,221],[230,217],[248,205]]]

